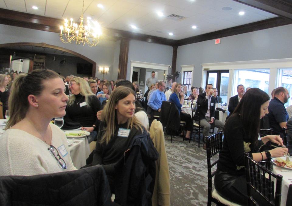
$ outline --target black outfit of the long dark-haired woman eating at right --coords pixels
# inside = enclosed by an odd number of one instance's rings
[[[258,151],[260,143],[250,141],[238,114],[229,117],[224,132],[214,186],[222,197],[241,205],[247,205],[244,153],[249,153],[249,156],[252,157],[252,153]],[[257,202],[265,205],[264,199],[258,193],[252,191],[252,196]]]

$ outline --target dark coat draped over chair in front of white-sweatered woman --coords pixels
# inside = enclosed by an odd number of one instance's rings
[[[116,205],[103,167],[0,177],[0,205]]]

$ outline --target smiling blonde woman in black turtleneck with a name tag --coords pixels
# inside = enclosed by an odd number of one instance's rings
[[[96,140],[98,132],[99,120],[96,118],[96,113],[100,110],[100,101],[81,77],[73,78],[69,88],[72,95],[67,103],[63,128],[67,129],[70,125],[74,125],[75,129],[82,127],[82,130],[90,132],[87,137],[90,143]]]

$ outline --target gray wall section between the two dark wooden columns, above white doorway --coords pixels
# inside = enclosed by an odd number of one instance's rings
[[[130,40],[127,79],[130,79],[131,60],[155,64],[172,64],[172,46]]]

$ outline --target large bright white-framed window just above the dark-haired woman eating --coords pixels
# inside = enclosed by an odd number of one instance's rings
[[[253,69],[253,70],[237,70],[238,79],[235,87],[242,84],[245,88],[259,88],[269,93],[269,69]],[[233,94],[237,94],[237,89],[233,90]]]

